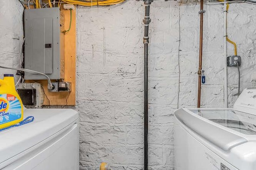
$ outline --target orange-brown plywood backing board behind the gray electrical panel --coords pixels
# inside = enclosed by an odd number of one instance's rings
[[[60,10],[64,19],[64,30],[68,30],[70,10],[64,10],[62,6]],[[63,23],[63,21],[61,22]],[[70,31],[64,34],[64,82],[71,82],[70,94],[69,92],[49,92],[47,80],[28,80],[26,82],[39,82],[42,84],[45,95],[50,100],[49,102],[44,96],[43,105],[76,105],[76,10],[72,10]],[[56,82],[56,80],[52,82]]]

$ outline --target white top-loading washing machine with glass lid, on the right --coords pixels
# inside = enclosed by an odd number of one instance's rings
[[[233,109],[174,112],[175,170],[256,170],[256,88]]]

